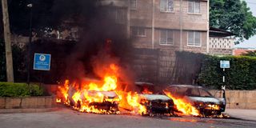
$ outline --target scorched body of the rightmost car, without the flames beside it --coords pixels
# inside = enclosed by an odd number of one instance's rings
[[[196,109],[198,109],[201,117],[219,116],[226,108],[225,90],[223,90],[223,98],[214,98],[209,91],[202,86],[192,85],[171,85],[166,87],[165,92],[170,92],[175,98],[182,98]]]

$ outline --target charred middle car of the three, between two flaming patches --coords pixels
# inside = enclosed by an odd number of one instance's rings
[[[140,104],[146,107],[146,114],[154,116],[157,114],[173,115],[174,102],[167,97],[162,90],[149,82],[135,82],[140,90]]]

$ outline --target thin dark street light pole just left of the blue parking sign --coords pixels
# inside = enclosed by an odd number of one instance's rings
[[[30,85],[30,56],[31,56],[31,42],[32,42],[32,13],[33,13],[33,4],[30,3],[27,5],[30,8],[30,38],[29,38],[29,45],[28,45],[28,57],[27,57],[27,84]]]

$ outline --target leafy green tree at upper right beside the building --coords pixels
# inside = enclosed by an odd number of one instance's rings
[[[240,0],[210,0],[210,26],[230,30],[238,42],[256,34],[256,18]]]

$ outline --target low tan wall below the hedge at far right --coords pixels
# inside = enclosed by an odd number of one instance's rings
[[[218,98],[220,92],[210,90]],[[228,109],[256,109],[256,90],[226,90],[226,108]]]

